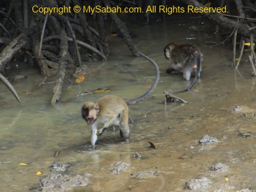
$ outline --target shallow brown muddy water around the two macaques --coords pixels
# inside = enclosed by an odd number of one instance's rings
[[[17,103],[0,85],[0,189],[28,191],[39,186],[39,179],[53,173],[53,162],[70,163],[68,175],[90,173],[86,191],[182,191],[186,181],[206,176],[212,181],[208,191],[222,189],[256,190],[255,84],[249,63],[244,59],[239,71],[230,67],[232,50],[208,47],[216,36],[213,24],[176,19],[149,27],[130,27],[137,47],[154,59],[160,68],[160,82],[150,97],[130,105],[130,142],[119,140],[119,131],[109,128],[91,150],[90,131],[81,118],[81,105],[106,93],[76,98],[50,107],[53,84],[34,87],[43,79],[37,69],[20,67],[9,76],[27,75],[14,84],[22,103]],[[169,42],[191,42],[204,53],[202,78],[190,92],[177,94],[187,104],[164,105],[162,92],[185,89],[189,83],[179,75],[165,74],[168,60],[163,47]],[[91,75],[82,84],[67,82],[62,100],[86,89],[107,87],[107,94],[133,98],[149,89],[154,81],[152,66],[132,57],[118,37],[109,39],[112,54],[104,63],[89,65]],[[15,65],[14,65],[15,66]],[[95,70],[96,69],[96,70]],[[234,111],[239,106],[241,110]],[[243,137],[250,133],[250,137]],[[199,146],[204,135],[219,140],[215,145]],[[156,149],[149,148],[154,143]],[[54,158],[54,152],[59,156]],[[134,158],[138,152],[142,158]],[[114,175],[112,163],[130,163],[127,170]],[[26,163],[27,165],[19,165]],[[210,171],[214,163],[224,163],[224,172]],[[154,174],[132,178],[135,171]],[[42,175],[36,175],[41,171]],[[225,180],[226,178],[226,180]],[[84,191],[79,189],[78,191]],[[207,191],[207,190],[206,190]]]

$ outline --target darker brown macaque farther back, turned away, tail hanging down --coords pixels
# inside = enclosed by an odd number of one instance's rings
[[[202,52],[196,46],[190,44],[179,45],[172,42],[164,48],[164,55],[171,62],[170,68],[166,70],[167,73],[171,73],[174,70],[182,70],[184,79],[190,80],[191,73],[193,69],[195,70],[193,82],[184,91],[192,89],[202,71],[201,62],[204,59]]]

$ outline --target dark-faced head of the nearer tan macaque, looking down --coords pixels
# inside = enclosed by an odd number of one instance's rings
[[[99,115],[99,105],[93,102],[86,102],[82,106],[82,118],[86,120],[88,125],[92,125]]]

